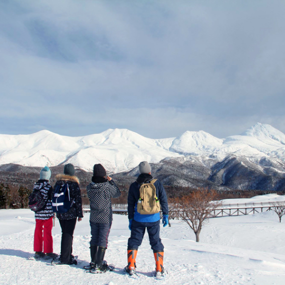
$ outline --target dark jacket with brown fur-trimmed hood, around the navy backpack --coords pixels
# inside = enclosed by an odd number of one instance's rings
[[[70,199],[73,200],[70,209],[66,213],[56,213],[56,216],[59,219],[83,217],[81,191],[79,188],[78,178],[76,176],[57,174],[55,179],[57,181],[55,182],[53,188],[55,188],[57,184],[63,185],[64,183],[67,183],[70,190]]]

